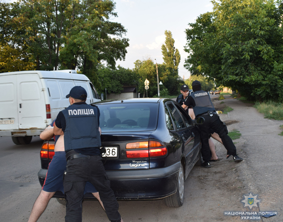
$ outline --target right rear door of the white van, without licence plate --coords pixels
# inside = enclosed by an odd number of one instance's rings
[[[46,127],[44,91],[38,74],[19,74],[16,76],[19,128]]]

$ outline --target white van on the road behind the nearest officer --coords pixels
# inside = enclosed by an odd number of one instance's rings
[[[0,136],[30,143],[70,105],[66,95],[74,86],[86,90],[87,104],[100,101],[89,79],[75,70],[0,73]]]

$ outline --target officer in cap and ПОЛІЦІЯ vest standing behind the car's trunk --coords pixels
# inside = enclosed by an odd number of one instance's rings
[[[83,87],[73,87],[66,98],[71,106],[58,113],[54,124],[54,134],[64,134],[67,159],[63,181],[67,200],[65,221],[82,221],[83,191],[89,181],[99,192],[108,219],[121,222],[119,205],[101,161],[99,109],[85,103],[87,93]]]

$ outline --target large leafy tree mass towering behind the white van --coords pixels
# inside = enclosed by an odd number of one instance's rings
[[[117,59],[125,59],[129,40],[122,37],[126,29],[110,21],[117,16],[112,0],[19,0],[8,5],[1,4],[0,10],[9,7],[14,13],[8,23],[0,15],[0,29],[22,41],[11,47],[23,50],[38,70],[80,69],[99,88],[100,63],[114,68]]]

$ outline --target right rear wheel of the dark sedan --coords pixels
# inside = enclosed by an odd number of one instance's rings
[[[181,164],[179,175],[178,175],[178,185],[177,185],[177,192],[167,198],[164,199],[165,204],[167,207],[171,208],[178,208],[181,207],[184,203],[184,168]]]

